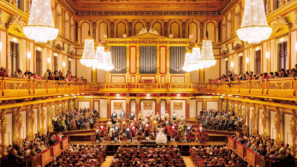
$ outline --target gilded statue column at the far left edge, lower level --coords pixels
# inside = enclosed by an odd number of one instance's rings
[[[1,110],[0,125],[1,125],[1,144],[0,144],[0,154],[2,156],[7,155],[7,145],[5,144],[5,134],[7,128],[7,118],[5,117],[6,109]]]

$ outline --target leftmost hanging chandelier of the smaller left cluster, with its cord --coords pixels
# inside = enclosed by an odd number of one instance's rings
[[[90,21],[90,0],[89,0],[89,21]],[[88,39],[85,39],[85,45],[83,47],[83,56],[80,59],[80,63],[85,65],[86,67],[93,67],[96,62],[98,62],[98,57],[95,53],[94,40],[91,39],[91,31],[89,26]]]

